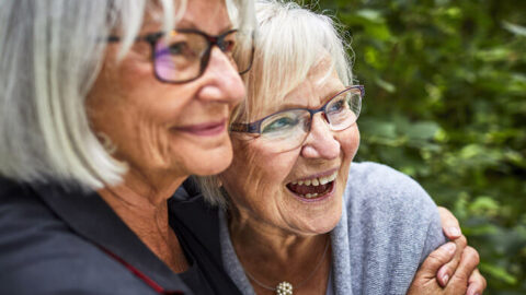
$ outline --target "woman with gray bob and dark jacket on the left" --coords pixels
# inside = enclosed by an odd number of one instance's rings
[[[239,292],[167,200],[231,162],[251,7],[0,1],[1,294]]]

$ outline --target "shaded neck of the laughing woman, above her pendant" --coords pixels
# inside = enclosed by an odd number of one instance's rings
[[[320,280],[327,280],[331,260],[330,250],[325,252],[329,234],[286,232],[236,211],[230,216],[229,231],[241,264],[249,276],[259,282],[275,286],[288,281],[298,286],[315,271]],[[318,266],[321,268],[317,270]],[[253,280],[251,283],[254,288],[263,291]]]

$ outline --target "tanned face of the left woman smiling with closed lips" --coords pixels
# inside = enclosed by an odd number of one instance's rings
[[[145,23],[140,35],[161,30],[148,17]],[[225,2],[188,1],[178,28],[227,32],[231,24]],[[224,170],[232,158],[228,117],[245,94],[228,57],[214,47],[201,78],[169,84],[156,79],[148,43],[136,42],[117,62],[119,46],[108,45],[87,99],[92,128],[115,145],[114,156],[151,179]]]

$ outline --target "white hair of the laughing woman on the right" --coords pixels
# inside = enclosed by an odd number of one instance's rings
[[[258,106],[279,104],[327,57],[342,83],[352,84],[352,60],[346,54],[350,46],[330,16],[279,0],[256,1],[255,11],[254,60],[250,72],[242,76],[248,97],[237,107],[230,122],[259,119],[253,117]],[[332,72],[328,71],[327,78]],[[220,188],[218,176],[194,178],[208,202],[227,204],[228,196]]]

